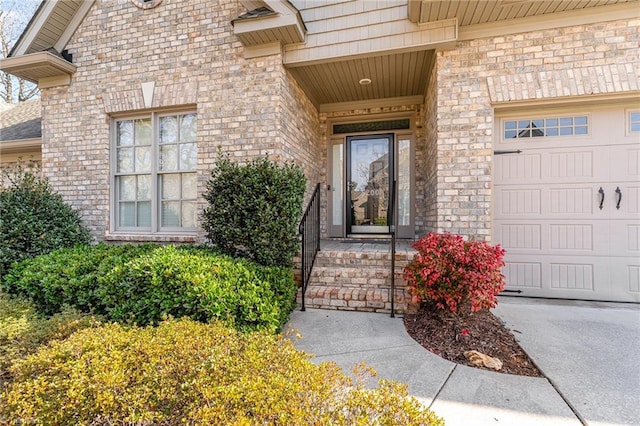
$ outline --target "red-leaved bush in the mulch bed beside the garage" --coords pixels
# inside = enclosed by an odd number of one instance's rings
[[[414,302],[433,302],[455,314],[493,308],[504,289],[500,272],[504,249],[460,235],[429,234],[413,243],[418,250],[404,277]]]

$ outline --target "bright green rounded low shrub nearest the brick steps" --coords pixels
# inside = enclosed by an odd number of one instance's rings
[[[295,289],[293,273],[285,268],[165,246],[113,268],[100,297],[116,321],[146,325],[167,315],[188,316],[275,332],[289,318]]]

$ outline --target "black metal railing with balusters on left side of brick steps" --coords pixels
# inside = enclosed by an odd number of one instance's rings
[[[307,209],[302,215],[298,231],[302,235],[302,311],[305,310],[304,294],[311,277],[311,270],[320,251],[320,183],[311,194]]]

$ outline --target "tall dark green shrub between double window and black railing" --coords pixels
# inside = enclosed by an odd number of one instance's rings
[[[202,228],[214,247],[230,256],[291,266],[305,186],[294,164],[259,158],[243,166],[221,155],[204,193]]]

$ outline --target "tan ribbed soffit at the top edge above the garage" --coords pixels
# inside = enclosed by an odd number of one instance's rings
[[[424,24],[458,18],[460,26],[577,11],[637,0],[408,0],[411,22]]]

